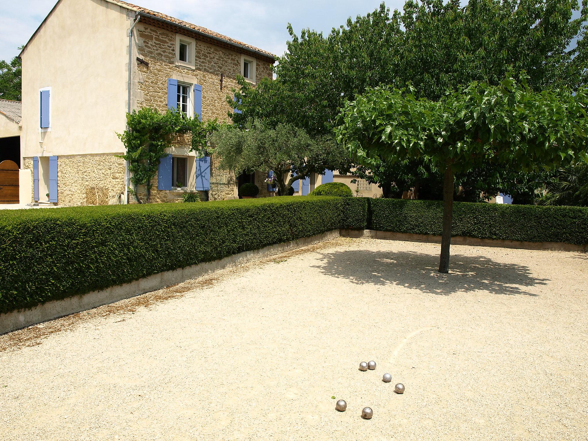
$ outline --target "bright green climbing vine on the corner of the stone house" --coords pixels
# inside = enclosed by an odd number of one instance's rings
[[[215,131],[216,119],[202,122],[198,118],[186,118],[176,109],[160,113],[156,109],[144,107],[126,114],[126,130],[117,133],[125,145],[126,153],[117,155],[129,162],[132,192],[137,202],[138,187],[145,185],[146,201],[149,202],[153,178],[157,175],[159,161],[168,155],[166,149],[176,141],[178,135],[191,135],[190,151],[205,153],[206,138]]]

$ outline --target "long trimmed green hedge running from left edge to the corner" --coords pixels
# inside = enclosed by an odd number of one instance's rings
[[[5,210],[0,313],[333,229],[363,229],[366,212],[357,198],[300,196]]]

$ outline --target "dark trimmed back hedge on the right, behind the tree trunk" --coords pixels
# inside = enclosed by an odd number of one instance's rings
[[[443,203],[370,199],[370,228],[440,235]],[[455,202],[452,236],[524,242],[588,243],[588,208]]]

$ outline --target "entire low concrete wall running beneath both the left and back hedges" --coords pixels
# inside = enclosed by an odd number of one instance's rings
[[[111,286],[101,291],[92,291],[87,294],[69,297],[63,300],[53,300],[35,308],[0,314],[0,334],[12,330],[26,328],[46,320],[56,319],[62,316],[81,312],[86,309],[96,308],[107,303],[118,302],[146,292],[155,291],[166,286],[201,277],[209,272],[219,269],[232,268],[243,265],[253,260],[286,252],[291,249],[302,248],[313,243],[335,239],[339,236],[346,238],[369,238],[387,240],[406,240],[408,242],[432,242],[440,243],[441,236],[417,235],[410,233],[395,233],[377,230],[332,230],[309,238],[292,240],[291,242],[278,243],[265,248],[245,251],[214,262],[199,263],[186,268],[165,271],[148,276],[125,285]],[[463,236],[451,238],[452,245],[470,246],[495,246],[501,248],[519,248],[532,250],[556,250],[586,252],[586,245],[572,245],[559,242],[517,242],[515,240],[476,239]]]

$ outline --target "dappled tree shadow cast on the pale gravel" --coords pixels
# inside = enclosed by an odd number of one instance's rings
[[[546,285],[549,279],[531,275],[529,267],[495,262],[485,256],[453,254],[449,275],[437,272],[439,256],[417,252],[346,250],[323,253],[322,265],[312,268],[350,282],[398,285],[449,295],[484,290],[492,294],[537,296],[525,288]]]

